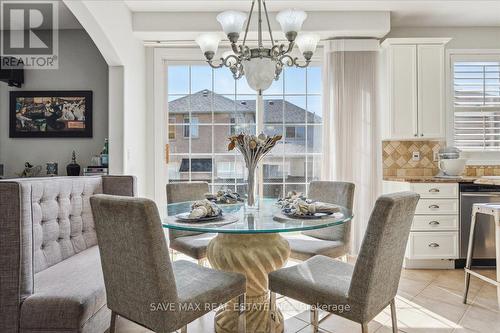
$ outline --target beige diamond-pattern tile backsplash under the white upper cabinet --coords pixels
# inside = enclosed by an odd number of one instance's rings
[[[384,176],[434,176],[439,172],[434,155],[444,141],[383,141],[382,162]],[[418,152],[418,161],[412,159]]]

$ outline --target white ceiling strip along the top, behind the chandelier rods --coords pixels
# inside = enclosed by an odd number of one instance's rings
[[[248,11],[250,0],[125,0],[133,12]],[[393,27],[500,26],[500,0],[268,0],[269,11],[390,11]]]

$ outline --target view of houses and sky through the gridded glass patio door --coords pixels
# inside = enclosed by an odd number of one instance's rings
[[[246,168],[228,137],[255,134],[256,96],[245,79],[208,66],[168,67],[169,181],[246,190]],[[288,77],[287,77],[288,75]],[[264,96],[264,132],[283,139],[264,159],[264,195],[306,191],[322,163],[320,67],[287,70]]]

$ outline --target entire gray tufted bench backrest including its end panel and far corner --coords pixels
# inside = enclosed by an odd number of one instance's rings
[[[135,183],[132,176],[0,181],[0,332],[17,326],[36,273],[97,245],[90,197],[135,196]]]

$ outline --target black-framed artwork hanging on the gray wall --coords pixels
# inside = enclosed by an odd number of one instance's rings
[[[11,138],[91,138],[92,91],[11,91]]]

